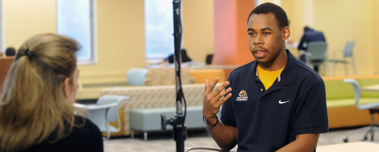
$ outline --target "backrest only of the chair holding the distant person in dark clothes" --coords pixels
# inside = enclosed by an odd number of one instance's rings
[[[325,41],[309,42],[307,51],[312,54],[309,56],[309,60],[325,60],[326,47]]]

